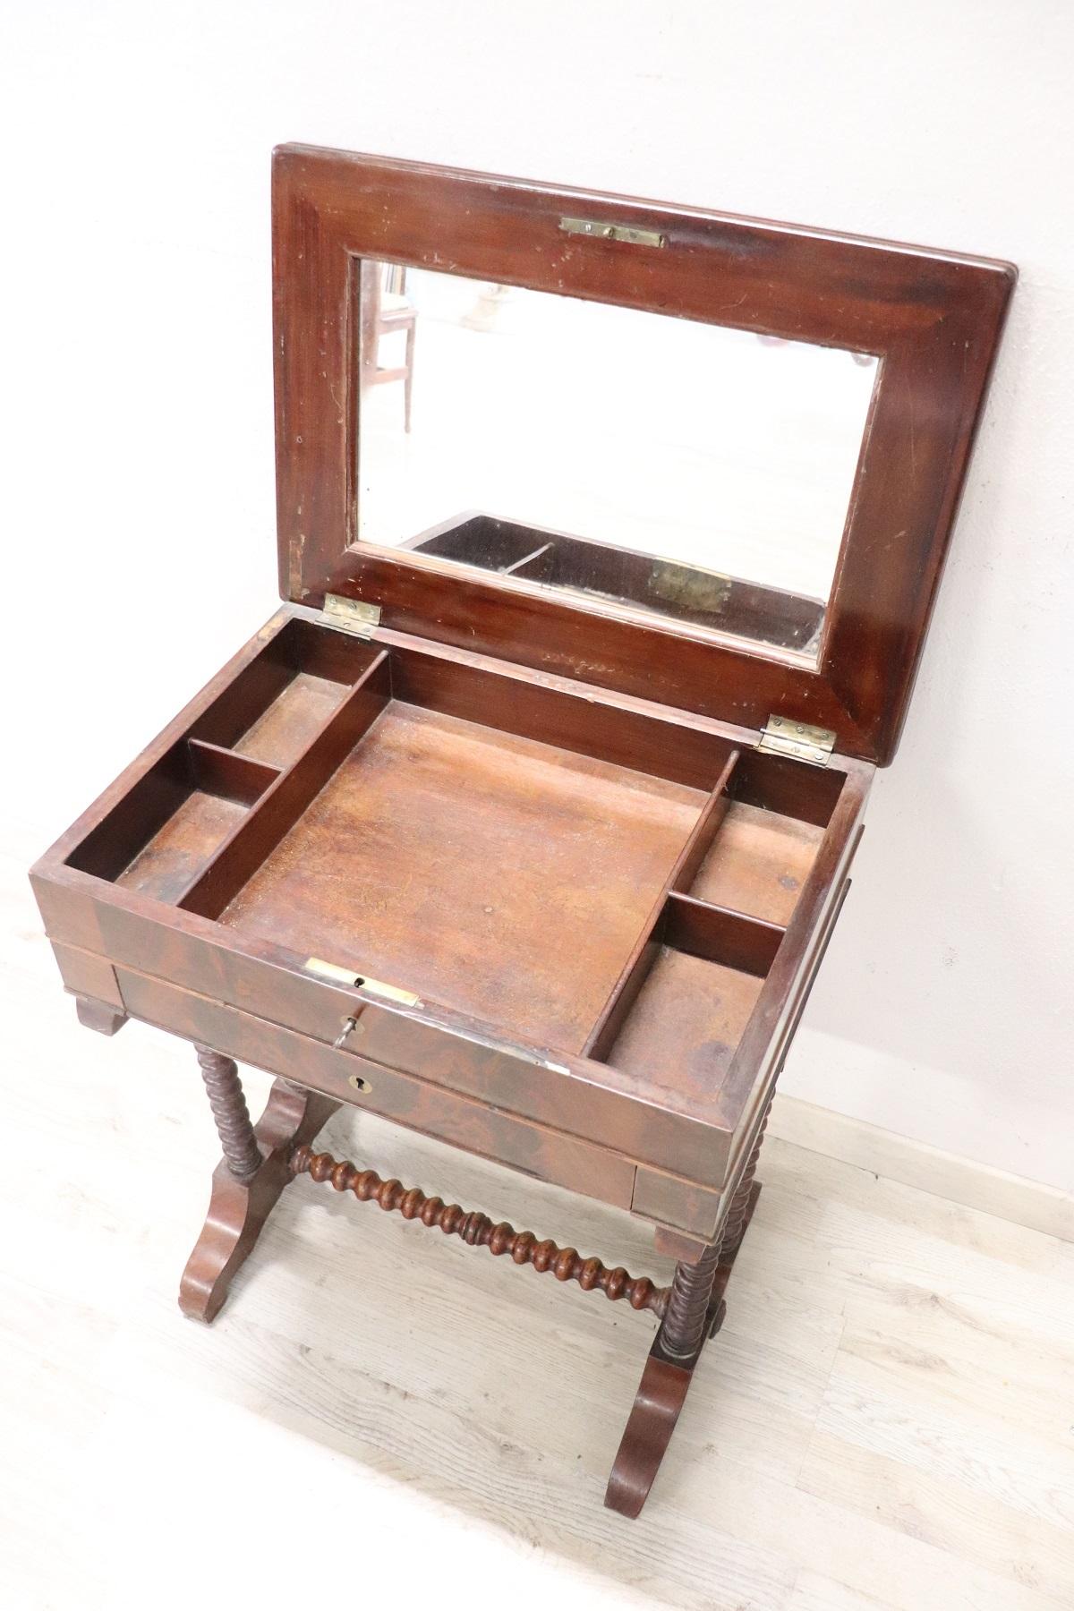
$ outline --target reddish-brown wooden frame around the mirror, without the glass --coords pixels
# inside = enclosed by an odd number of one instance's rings
[[[570,234],[565,217],[660,237]],[[879,359],[816,665],[597,599],[357,543],[357,284],[375,256]],[[285,145],[272,166],[280,594],[887,764],[1016,271],[686,206]]]

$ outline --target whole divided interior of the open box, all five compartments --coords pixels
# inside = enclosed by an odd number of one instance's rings
[[[68,863],[704,1100],[844,785],[293,619]]]

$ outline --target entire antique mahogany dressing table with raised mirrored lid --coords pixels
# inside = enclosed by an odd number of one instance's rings
[[[222,1158],[182,1310],[298,1176],[626,1300],[657,1321],[607,1490],[636,1516],[1014,271],[308,147],[272,224],[283,607],[34,889],[84,1025],[196,1047]],[[367,300],[403,271],[396,332]],[[256,1124],[237,1060],[277,1076]],[[319,1152],[343,1102],[636,1215],[671,1284]]]

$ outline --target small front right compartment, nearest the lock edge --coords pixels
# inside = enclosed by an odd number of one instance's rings
[[[691,1099],[723,1084],[783,941],[775,923],[668,896],[591,1055]]]

